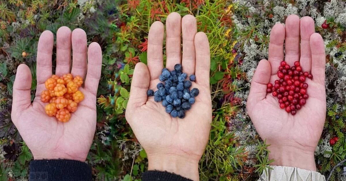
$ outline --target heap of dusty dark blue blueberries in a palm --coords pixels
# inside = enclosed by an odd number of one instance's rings
[[[190,75],[190,80],[185,80],[187,74],[183,73],[181,64],[175,64],[174,70],[162,69],[159,77],[160,82],[156,85],[157,91],[149,89],[148,96],[154,96],[155,102],[162,101],[162,106],[166,107],[166,112],[173,118],[185,117],[185,111],[191,109],[198,96],[199,90],[193,88],[190,90],[192,82],[196,80],[195,75]]]

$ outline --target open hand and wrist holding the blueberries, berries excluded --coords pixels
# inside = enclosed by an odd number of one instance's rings
[[[135,67],[126,119],[148,155],[148,170],[174,172],[199,180],[198,161],[208,142],[212,112],[208,38],[202,32],[197,33],[193,16],[181,18],[174,12],[167,17],[166,68],[174,70],[175,64],[182,63],[183,72],[196,75],[192,88],[200,91],[185,118],[179,119],[167,114],[165,107],[161,102],[155,102],[154,97],[147,97],[147,90],[157,90],[156,84],[160,82],[163,35],[163,24],[154,22],[148,35],[148,67],[143,63],[137,63]]]

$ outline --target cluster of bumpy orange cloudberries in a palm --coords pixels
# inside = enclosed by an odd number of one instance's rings
[[[62,77],[52,75],[45,82],[47,90],[41,92],[41,101],[49,102],[45,111],[48,116],[55,116],[61,122],[71,118],[71,112],[77,110],[78,103],[84,99],[84,94],[78,89],[82,86],[80,76],[73,78],[72,74]]]

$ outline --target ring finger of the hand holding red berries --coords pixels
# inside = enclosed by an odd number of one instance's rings
[[[300,20],[300,66],[304,72],[311,71],[310,36],[315,33],[315,22],[311,17]]]

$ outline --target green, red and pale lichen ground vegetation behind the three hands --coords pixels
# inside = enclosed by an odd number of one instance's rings
[[[94,179],[140,180],[146,153],[125,119],[131,77],[137,62],[146,63],[149,26],[174,11],[194,15],[210,42],[213,121],[199,164],[201,180],[254,180],[271,162],[268,145],[247,116],[246,99],[257,63],[268,56],[272,26],[292,13],[311,16],[326,46],[328,114],[315,152],[317,169],[328,180],[346,180],[343,0],[0,1],[0,180],[27,180],[32,159],[10,119],[16,67],[30,67],[34,95],[38,37],[60,26],[83,28],[88,42],[98,42],[103,51],[97,131],[87,159]]]

